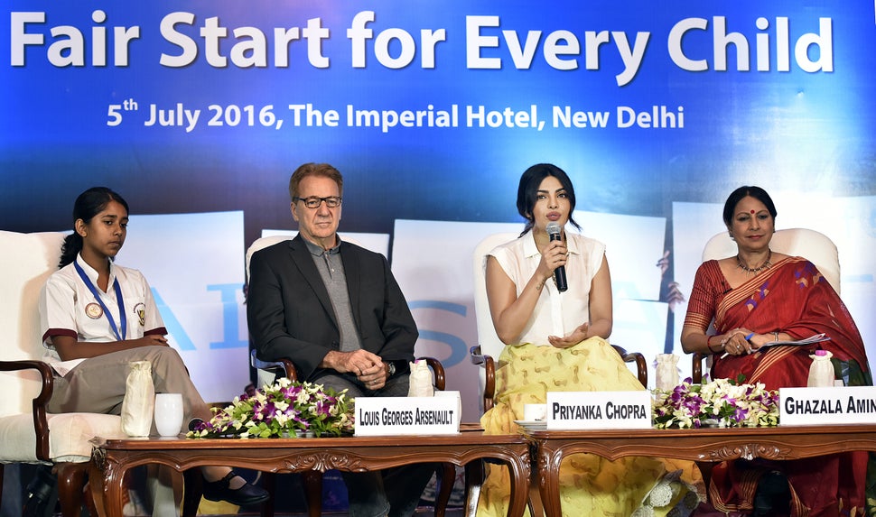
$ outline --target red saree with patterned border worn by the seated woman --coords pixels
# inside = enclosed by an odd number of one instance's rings
[[[735,289],[716,261],[703,263],[694,279],[685,327],[706,331],[712,324],[719,335],[744,327],[758,334],[784,332],[797,339],[822,332],[831,338],[811,346],[771,346],[723,359],[715,355],[713,378],[735,379],[742,374],[746,383],[764,383],[771,390],[806,386],[809,355],[817,348],[868,369],[861,335],[845,304],[815,265],[800,257],[779,261]],[[863,515],[867,459],[866,452],[853,452],[787,462],[723,463],[713,470],[710,497],[722,512],[750,511],[760,475],[779,470],[791,487],[791,515]]]

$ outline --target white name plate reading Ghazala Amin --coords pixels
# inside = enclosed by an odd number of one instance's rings
[[[876,423],[876,387],[781,388],[780,425]]]

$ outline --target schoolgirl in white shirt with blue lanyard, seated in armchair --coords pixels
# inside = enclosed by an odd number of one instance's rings
[[[88,189],[76,199],[61,270],[49,277],[40,300],[45,360],[56,374],[48,409],[119,414],[128,363],[150,361],[155,392],[182,393],[185,419],[209,420],[182,358],[168,346],[143,274],[113,262],[127,222],[126,201],[110,189]],[[211,501],[247,505],[269,497],[227,466],[201,471]]]

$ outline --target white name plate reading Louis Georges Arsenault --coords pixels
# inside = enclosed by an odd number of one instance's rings
[[[455,397],[358,397],[356,436],[456,434],[460,432]]]

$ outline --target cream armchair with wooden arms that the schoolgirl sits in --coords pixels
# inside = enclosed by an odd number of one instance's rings
[[[89,440],[125,435],[115,415],[46,412],[52,374],[40,361],[38,304],[42,285],[58,269],[63,237],[0,231],[0,482],[7,463],[53,464],[61,512],[69,517],[78,516],[83,503]]]

